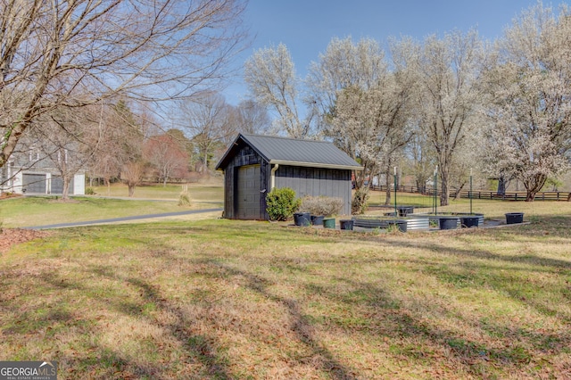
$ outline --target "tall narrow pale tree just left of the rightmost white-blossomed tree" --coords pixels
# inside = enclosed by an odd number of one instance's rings
[[[441,179],[441,205],[451,191],[451,168],[466,136],[478,125],[478,85],[484,67],[484,45],[475,30],[426,37],[407,65],[417,70],[418,120],[434,149]]]

